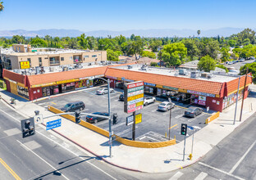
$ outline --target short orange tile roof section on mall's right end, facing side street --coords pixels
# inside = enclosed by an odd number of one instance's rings
[[[249,73],[248,75],[251,76],[252,74]],[[253,79],[249,76],[246,79],[246,85],[253,83]],[[227,82],[226,83],[227,94],[231,93],[231,92],[234,92],[235,90],[237,91],[238,83],[239,83],[238,78],[234,79],[234,80],[231,80],[230,82]],[[244,86],[245,86],[245,75],[240,78],[240,86],[239,87],[242,88]]]

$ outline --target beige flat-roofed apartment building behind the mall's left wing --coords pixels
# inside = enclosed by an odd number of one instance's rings
[[[32,48],[30,45],[15,44],[0,50],[2,69],[28,69],[37,66],[72,65],[107,61],[106,51],[74,50],[57,48]]]

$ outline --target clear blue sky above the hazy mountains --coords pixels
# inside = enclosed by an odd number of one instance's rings
[[[0,30],[256,28],[256,0],[1,0]]]

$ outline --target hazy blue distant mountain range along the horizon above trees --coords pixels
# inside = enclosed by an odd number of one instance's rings
[[[231,34],[237,34],[243,29],[241,28],[221,28],[221,29],[208,29],[201,30],[200,37],[216,37],[224,36],[228,37]],[[255,31],[256,29],[254,29]],[[197,37],[197,30],[192,29],[137,29],[137,30],[125,30],[125,31],[111,31],[111,30],[95,30],[83,32],[76,29],[40,29],[40,30],[0,30],[0,37],[11,37],[13,35],[23,35],[25,37],[35,37],[38,35],[39,37],[44,37],[46,35],[50,35],[52,37],[78,37],[80,34],[84,34],[86,36],[94,36],[94,37],[107,37],[107,35],[111,35],[112,37],[116,37],[118,35],[123,35],[126,37],[130,37],[131,34],[139,35],[144,38],[158,38],[158,37]]]

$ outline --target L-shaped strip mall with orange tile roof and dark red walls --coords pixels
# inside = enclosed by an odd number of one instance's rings
[[[45,72],[44,74],[18,74],[14,70],[3,70],[7,91],[27,100],[48,97],[58,93],[94,87],[100,82],[97,78],[111,80],[112,88],[133,81],[144,82],[144,92],[153,96],[174,98],[187,104],[209,107],[221,111],[235,103],[239,77],[226,74],[213,74],[210,78],[190,78],[177,71],[159,68],[141,68],[139,64],[86,67],[80,70]],[[249,74],[250,75],[250,74]],[[248,86],[252,78],[240,76],[238,98],[244,92],[248,96]]]

